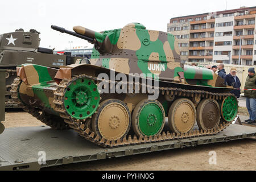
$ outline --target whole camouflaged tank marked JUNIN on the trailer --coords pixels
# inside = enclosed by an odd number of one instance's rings
[[[119,147],[214,135],[237,116],[233,88],[209,69],[181,63],[172,34],[141,23],[102,32],[52,28],[94,44],[91,58],[60,69],[20,65],[11,92],[54,129]]]

